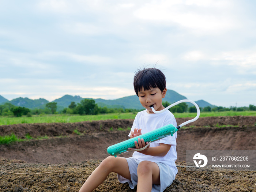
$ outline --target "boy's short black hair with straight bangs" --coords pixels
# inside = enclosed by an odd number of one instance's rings
[[[138,69],[133,78],[133,87],[137,96],[142,87],[144,90],[159,88],[163,92],[166,88],[166,78],[157,68]]]

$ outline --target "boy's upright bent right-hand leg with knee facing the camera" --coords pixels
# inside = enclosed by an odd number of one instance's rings
[[[137,192],[151,192],[152,185],[160,185],[160,170],[157,163],[142,161],[138,165]]]

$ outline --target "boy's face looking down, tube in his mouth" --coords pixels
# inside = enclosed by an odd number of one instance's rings
[[[154,113],[150,106],[153,105],[156,111],[164,109],[162,105],[162,98],[165,97],[166,88],[163,92],[159,88],[151,88],[150,90],[142,89],[138,92],[140,103],[147,109],[147,113]]]

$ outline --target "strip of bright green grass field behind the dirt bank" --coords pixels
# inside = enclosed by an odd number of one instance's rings
[[[202,112],[200,117],[210,116],[256,116],[256,111],[244,112]],[[136,113],[109,113],[99,115],[45,115],[32,117],[0,117],[0,125],[12,125],[21,123],[75,123],[81,121],[98,121],[108,119],[133,119]],[[196,117],[196,113],[174,113],[176,118],[180,117]]]

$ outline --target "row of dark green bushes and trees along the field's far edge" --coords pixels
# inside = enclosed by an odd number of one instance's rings
[[[50,105],[51,104],[51,105]],[[165,101],[162,105],[166,108],[171,103]],[[112,108],[109,108],[112,107]],[[116,108],[115,108],[116,107]],[[122,107],[122,106],[121,106]],[[27,116],[31,117],[32,115],[44,115],[44,114],[56,114],[57,103],[52,102],[47,105],[44,109],[28,109],[25,107],[15,106],[11,103],[4,103],[0,105],[0,116]],[[200,107],[199,107],[200,108]],[[144,110],[144,109],[141,109]],[[76,104],[75,102],[71,102],[68,108],[63,109],[62,114],[80,114],[80,115],[92,115],[92,114],[107,114],[107,113],[136,113],[141,110],[138,109],[125,109],[124,107],[120,108],[119,105],[109,105],[99,107],[97,103],[95,103],[94,99],[83,99],[80,103]],[[195,106],[189,107],[186,103],[180,103],[178,105],[173,106],[169,109],[172,113],[196,113]],[[200,108],[202,112],[224,112],[224,111],[256,111],[256,106],[249,105],[249,107],[232,107],[225,108],[222,106],[211,108],[210,106]]]

